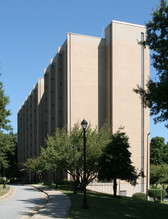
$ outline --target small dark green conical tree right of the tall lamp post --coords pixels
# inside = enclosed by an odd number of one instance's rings
[[[141,172],[138,174],[132,165],[128,140],[125,132],[119,129],[111,135],[110,142],[99,158],[98,178],[99,180],[113,180],[114,196],[117,193],[117,179],[136,185],[138,177],[142,175]]]

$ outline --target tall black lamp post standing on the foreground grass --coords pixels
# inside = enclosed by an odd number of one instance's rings
[[[81,126],[83,128],[83,142],[84,142],[84,197],[83,197],[82,208],[88,209],[87,197],[86,197],[86,136],[85,136],[87,121],[85,119],[83,119],[83,121],[81,122]]]

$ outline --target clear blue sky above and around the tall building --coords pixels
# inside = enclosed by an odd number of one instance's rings
[[[10,98],[11,124],[17,132],[17,110],[68,32],[104,36],[111,20],[144,25],[159,0],[0,0],[0,80]],[[151,76],[155,71],[151,67]],[[168,141],[164,124],[151,137]]]

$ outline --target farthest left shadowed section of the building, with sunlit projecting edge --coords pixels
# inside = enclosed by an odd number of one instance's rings
[[[29,96],[18,111],[18,162],[40,154],[41,111],[39,104],[44,92],[44,80],[38,79]]]

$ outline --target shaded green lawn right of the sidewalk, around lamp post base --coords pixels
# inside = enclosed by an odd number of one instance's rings
[[[147,201],[134,200],[127,197],[114,198],[111,195],[87,192],[88,210],[81,208],[83,193],[73,194],[72,191],[63,191],[71,200],[68,219],[166,219],[168,205]]]

